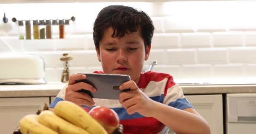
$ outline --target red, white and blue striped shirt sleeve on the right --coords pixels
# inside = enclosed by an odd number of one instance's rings
[[[181,110],[185,108],[193,108],[185,98],[182,88],[173,82],[172,77],[169,77],[166,83],[163,103]]]

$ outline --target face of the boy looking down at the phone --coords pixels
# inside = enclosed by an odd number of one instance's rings
[[[104,73],[130,75],[131,80],[138,83],[144,60],[149,57],[150,46],[145,51],[140,29],[122,38],[112,38],[112,34],[112,27],[105,30],[99,42],[100,51],[96,48]]]

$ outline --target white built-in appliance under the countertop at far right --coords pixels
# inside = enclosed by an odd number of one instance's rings
[[[227,94],[226,134],[256,134],[256,93]]]

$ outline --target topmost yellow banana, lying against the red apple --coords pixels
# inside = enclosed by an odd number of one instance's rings
[[[59,101],[53,112],[70,123],[85,129],[90,134],[107,134],[107,131],[98,121],[93,119],[89,113],[85,112],[83,108],[75,103]]]

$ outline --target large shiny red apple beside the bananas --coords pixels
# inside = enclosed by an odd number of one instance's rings
[[[111,108],[96,106],[89,111],[89,114],[106,129],[108,134],[112,134],[119,126],[119,117]]]

